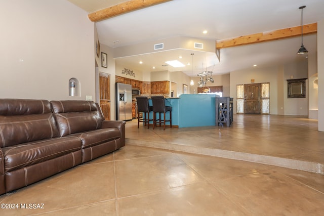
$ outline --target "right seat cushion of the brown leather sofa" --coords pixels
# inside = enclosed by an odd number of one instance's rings
[[[95,131],[89,131],[85,133],[72,134],[70,136],[76,136],[82,141],[82,148],[88,148],[96,146],[101,143],[105,143],[111,140],[120,138],[119,129],[116,127],[96,129]]]

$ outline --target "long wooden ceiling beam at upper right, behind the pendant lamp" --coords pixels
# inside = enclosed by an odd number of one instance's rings
[[[303,25],[303,35],[313,34],[317,32],[317,23]],[[241,45],[256,44],[259,42],[279,40],[301,35],[301,26],[284,28],[269,32],[250,34],[246,36],[235,37],[231,39],[223,39],[216,41],[216,49],[236,47]]]

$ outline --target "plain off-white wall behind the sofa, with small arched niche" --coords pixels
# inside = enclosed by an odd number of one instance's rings
[[[95,98],[94,23],[65,0],[2,1],[0,98]],[[80,82],[68,96],[68,80]]]

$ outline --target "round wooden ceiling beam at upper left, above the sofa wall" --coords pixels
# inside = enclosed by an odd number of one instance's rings
[[[146,8],[149,6],[157,5],[160,3],[169,2],[172,0],[130,0],[128,2],[120,3],[118,5],[104,8],[99,11],[88,14],[89,19],[92,22],[98,22],[104,19],[108,19],[114,16]]]

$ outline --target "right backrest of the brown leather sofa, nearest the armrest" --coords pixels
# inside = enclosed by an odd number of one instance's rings
[[[101,128],[104,120],[93,101],[51,101],[60,136]]]

